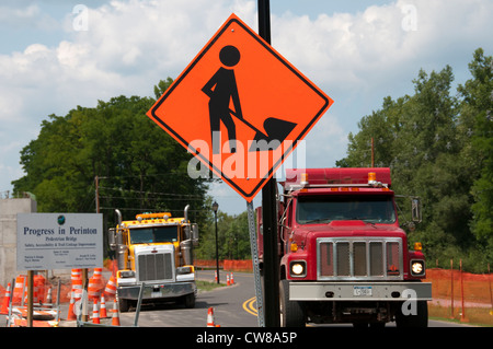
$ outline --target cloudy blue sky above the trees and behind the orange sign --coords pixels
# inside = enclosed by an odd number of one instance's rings
[[[121,94],[152,96],[232,12],[256,30],[250,0],[1,1],[0,195],[23,175],[20,151],[48,115]],[[309,167],[334,166],[358,120],[388,95],[412,94],[421,68],[450,65],[463,83],[475,48],[493,55],[488,0],[271,0],[271,14],[274,48],[335,101],[306,138]],[[245,208],[226,185],[210,194],[229,213]]]

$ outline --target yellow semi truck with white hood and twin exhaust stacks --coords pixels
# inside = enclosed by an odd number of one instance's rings
[[[195,306],[197,287],[193,265],[193,247],[198,243],[197,224],[169,212],[140,213],[135,220],[122,220],[108,231],[110,248],[115,251],[119,310],[127,312],[137,304],[144,283],[142,302],[181,301]]]

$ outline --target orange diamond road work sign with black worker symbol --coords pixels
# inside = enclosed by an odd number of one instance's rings
[[[332,103],[231,14],[147,115],[251,201]]]

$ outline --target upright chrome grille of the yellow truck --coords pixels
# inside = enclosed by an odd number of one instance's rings
[[[171,253],[141,254],[137,258],[139,281],[172,280],[173,263]]]

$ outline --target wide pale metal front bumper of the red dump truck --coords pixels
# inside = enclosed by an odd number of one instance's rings
[[[431,301],[431,282],[289,282],[290,301]]]

